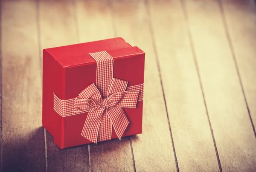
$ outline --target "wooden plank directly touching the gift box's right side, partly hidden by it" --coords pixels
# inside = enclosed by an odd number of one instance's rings
[[[145,1],[112,0],[117,36],[146,53],[143,134],[131,137],[137,172],[176,171]]]

